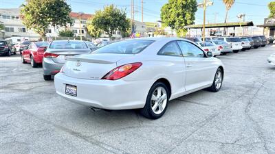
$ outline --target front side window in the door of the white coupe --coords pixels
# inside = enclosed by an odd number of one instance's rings
[[[177,41],[184,57],[204,57],[203,51],[194,44],[186,41]]]

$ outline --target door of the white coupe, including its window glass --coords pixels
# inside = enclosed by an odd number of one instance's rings
[[[185,60],[186,92],[211,85],[216,71],[213,57],[206,57],[205,53],[191,42],[179,40],[177,43]]]

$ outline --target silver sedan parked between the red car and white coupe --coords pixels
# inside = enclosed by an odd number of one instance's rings
[[[44,53],[44,79],[52,79],[61,70],[63,64],[72,56],[90,53],[91,49],[80,40],[54,40]]]

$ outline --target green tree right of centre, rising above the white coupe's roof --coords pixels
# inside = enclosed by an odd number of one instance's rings
[[[162,6],[160,17],[165,26],[172,29],[183,29],[185,25],[192,25],[197,12],[196,0],[169,0]]]

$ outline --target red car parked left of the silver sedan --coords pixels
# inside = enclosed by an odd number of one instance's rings
[[[22,51],[21,60],[23,64],[30,63],[32,67],[37,67],[43,62],[43,54],[49,42],[32,42]]]

